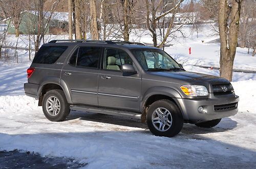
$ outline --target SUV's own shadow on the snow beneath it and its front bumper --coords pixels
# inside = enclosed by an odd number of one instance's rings
[[[146,123],[136,122],[135,119],[125,118],[120,116],[99,114],[99,113],[84,113],[72,111],[68,116],[67,120],[80,119],[87,120],[91,122],[106,123],[112,125],[126,126],[126,127],[136,127],[141,129],[146,129],[148,133],[148,127]],[[219,125],[213,128],[200,128],[193,124],[184,124],[181,132],[183,134],[207,134],[207,133],[218,133],[228,130],[232,130],[237,127],[237,122],[229,117],[223,118]]]

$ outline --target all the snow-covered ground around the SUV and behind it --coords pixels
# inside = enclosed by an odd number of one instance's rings
[[[177,41],[165,51],[189,71],[219,75],[219,44],[204,36]],[[189,32],[187,30],[187,32]],[[61,37],[58,37],[61,38]],[[18,44],[26,47],[25,35]],[[205,42],[202,43],[201,39]],[[141,38],[140,41],[148,41]],[[10,43],[16,42],[10,37]],[[188,55],[191,46],[192,55]],[[235,66],[256,70],[256,57],[238,49]],[[20,63],[0,61],[0,151],[24,150],[41,156],[70,157],[86,168],[255,168],[256,75],[234,73],[232,85],[240,96],[239,113],[223,118],[212,129],[184,125],[174,138],[153,136],[145,124],[111,115],[71,112],[65,122],[50,122],[37,101],[24,95],[27,51]]]

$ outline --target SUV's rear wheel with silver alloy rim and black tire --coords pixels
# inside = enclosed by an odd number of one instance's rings
[[[54,105],[51,105],[54,104]],[[48,107],[48,110],[47,110]],[[61,122],[70,113],[70,107],[62,90],[49,90],[42,99],[42,111],[52,122]]]

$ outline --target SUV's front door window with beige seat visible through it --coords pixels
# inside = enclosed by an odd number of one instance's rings
[[[122,64],[133,64],[130,56],[123,50],[106,48],[104,54],[104,69],[121,70]]]

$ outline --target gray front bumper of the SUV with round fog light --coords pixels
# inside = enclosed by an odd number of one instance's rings
[[[177,99],[177,103],[184,120],[192,123],[203,122],[212,119],[232,116],[238,113],[239,96],[228,94],[225,96],[209,95],[209,99]],[[230,104],[235,107],[230,107]],[[198,112],[198,108],[202,106],[204,111]],[[223,107],[223,109],[219,109]]]

